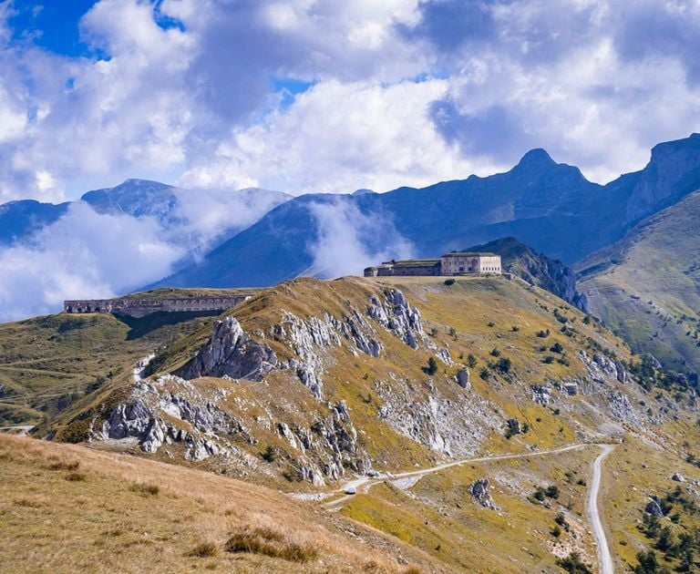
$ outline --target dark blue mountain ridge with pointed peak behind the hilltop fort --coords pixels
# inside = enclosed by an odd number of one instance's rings
[[[605,186],[588,181],[578,168],[556,163],[544,149],[533,149],[510,171],[486,178],[472,175],[382,194],[295,198],[158,285],[263,286],[318,272],[314,245],[325,241],[314,215],[318,206],[385,221],[386,230],[410,241],[419,257],[517,237],[571,264],[698,188],[700,134],[655,146],[644,169]],[[367,233],[361,241],[366,252],[391,253],[396,233]]]

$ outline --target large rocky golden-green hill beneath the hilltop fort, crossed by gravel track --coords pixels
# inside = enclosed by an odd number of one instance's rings
[[[633,527],[649,495],[664,496],[672,472],[698,476],[687,386],[662,388],[664,374],[641,370],[612,333],[517,279],[284,282],[149,369],[79,399],[39,436],[281,489],[438,570],[553,571],[572,551],[594,564],[592,444],[623,440],[605,468],[629,494],[612,498],[605,470],[602,496],[616,502],[601,506],[619,568],[652,544]],[[683,514],[678,532],[695,521]]]

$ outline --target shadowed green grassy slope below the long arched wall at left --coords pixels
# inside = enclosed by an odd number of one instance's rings
[[[0,324],[0,425],[46,422],[89,385],[129,381],[140,358],[209,321],[197,313],[61,313]]]

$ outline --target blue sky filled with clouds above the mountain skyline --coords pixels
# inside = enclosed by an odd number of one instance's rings
[[[698,131],[700,0],[0,0],[0,202],[377,191]]]

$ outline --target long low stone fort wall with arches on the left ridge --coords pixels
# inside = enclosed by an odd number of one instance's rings
[[[81,299],[63,302],[63,311],[64,313],[118,313],[136,318],[159,311],[166,313],[226,311],[249,299],[251,294]]]

